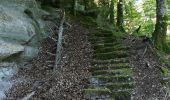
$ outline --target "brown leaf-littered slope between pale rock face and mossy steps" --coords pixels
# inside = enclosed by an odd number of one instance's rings
[[[7,92],[7,100],[81,100],[83,89],[88,84],[92,56],[88,33],[89,29],[77,21],[64,28],[59,73],[48,82],[53,73],[56,42],[44,39],[39,56],[13,77],[15,84]]]

